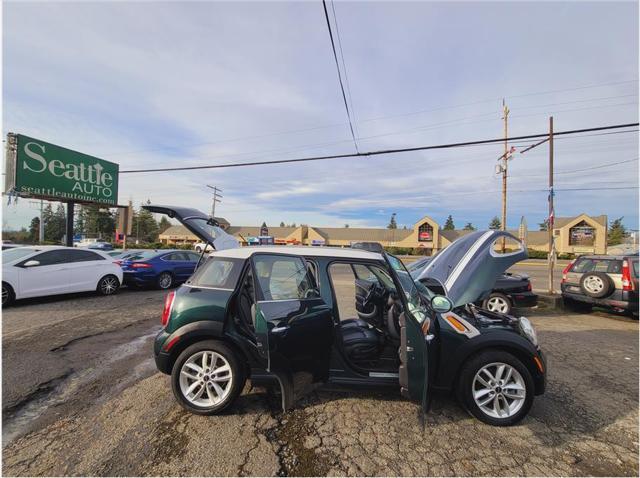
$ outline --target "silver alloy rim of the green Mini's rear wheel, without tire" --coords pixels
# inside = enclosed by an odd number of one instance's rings
[[[180,391],[198,407],[212,407],[225,400],[233,386],[233,373],[227,359],[205,350],[193,354],[180,369]]]

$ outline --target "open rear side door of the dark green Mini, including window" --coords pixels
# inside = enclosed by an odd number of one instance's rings
[[[251,260],[258,351],[280,381],[286,410],[311,383],[329,377],[333,318],[303,258],[260,253]]]

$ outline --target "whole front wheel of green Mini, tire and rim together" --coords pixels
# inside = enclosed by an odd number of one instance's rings
[[[495,426],[522,420],[533,404],[531,373],[508,352],[488,350],[464,364],[458,399],[477,419]]]

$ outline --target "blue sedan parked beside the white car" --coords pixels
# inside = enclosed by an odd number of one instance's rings
[[[126,285],[170,289],[193,274],[199,259],[200,255],[191,251],[148,249],[125,255],[118,262]]]

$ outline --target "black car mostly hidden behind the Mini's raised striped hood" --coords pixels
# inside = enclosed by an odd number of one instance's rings
[[[434,282],[427,277],[420,278],[420,275],[434,257],[437,257],[437,255],[418,259],[409,264],[407,270],[414,279],[421,280],[425,286],[436,294],[444,294],[445,292],[440,283]],[[489,294],[478,300],[476,305],[491,312],[511,314],[514,307],[534,307],[538,305],[538,295],[532,292],[528,275],[505,272],[498,277]]]

